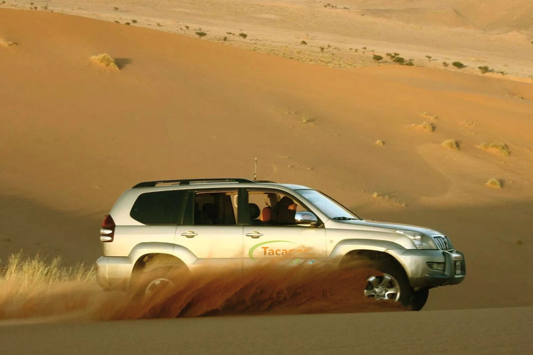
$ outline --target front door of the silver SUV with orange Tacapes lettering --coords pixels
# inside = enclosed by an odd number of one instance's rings
[[[276,190],[248,192],[249,222],[243,230],[244,265],[280,259],[314,263],[326,258],[323,227],[296,225],[295,212],[309,211],[295,197]]]

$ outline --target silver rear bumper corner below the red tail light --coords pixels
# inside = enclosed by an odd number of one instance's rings
[[[128,257],[100,257],[96,260],[96,280],[106,289],[127,287],[132,270],[133,263]]]

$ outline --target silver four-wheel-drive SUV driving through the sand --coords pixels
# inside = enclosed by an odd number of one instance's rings
[[[248,179],[148,181],[119,197],[100,230],[96,261],[104,288],[127,288],[149,275],[147,290],[166,266],[193,269],[206,261],[245,268],[264,258],[298,262],[364,259],[369,298],[421,309],[432,287],[466,275],[463,253],[436,230],[364,220],[314,189]]]

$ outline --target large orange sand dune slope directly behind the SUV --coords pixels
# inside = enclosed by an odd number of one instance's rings
[[[18,43],[0,46],[0,257],[23,248],[92,262],[124,189],[249,177],[257,156],[260,178],[447,233],[469,278],[432,291],[428,309],[531,305],[530,84],[398,65],[334,70],[47,12],[0,9],[0,37]],[[98,53],[122,69],[96,68]],[[410,127],[423,121],[437,129]],[[450,138],[459,152],[440,145]],[[511,155],[476,147],[492,142]]]

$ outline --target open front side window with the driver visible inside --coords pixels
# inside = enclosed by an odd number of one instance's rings
[[[293,197],[275,191],[248,191],[250,225],[296,226],[296,212],[308,211]]]

